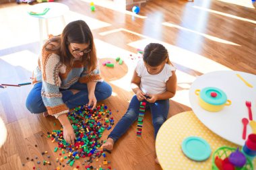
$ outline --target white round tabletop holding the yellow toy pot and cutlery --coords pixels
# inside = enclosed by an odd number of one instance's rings
[[[241,75],[245,81],[253,87],[248,87],[236,74]],[[224,106],[220,112],[208,112],[198,104],[196,89],[205,87],[217,87],[226,93],[231,100],[231,105]],[[249,120],[249,114],[245,101],[251,101],[253,120],[256,120],[256,75],[239,71],[215,71],[197,77],[189,89],[189,101],[191,108],[197,118],[212,132],[222,138],[243,146],[245,140],[242,138],[242,119]],[[251,127],[247,125],[247,136],[252,133]]]

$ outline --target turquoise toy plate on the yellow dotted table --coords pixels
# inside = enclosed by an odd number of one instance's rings
[[[194,161],[204,161],[212,153],[210,145],[203,138],[190,136],[183,140],[181,145],[183,153]]]

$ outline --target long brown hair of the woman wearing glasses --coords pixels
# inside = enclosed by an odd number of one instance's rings
[[[70,22],[65,26],[63,32],[59,36],[54,36],[44,45],[46,51],[51,51],[59,54],[60,60],[63,64],[70,66],[73,59],[69,52],[69,44],[89,44],[90,52],[82,56],[82,63],[88,67],[88,72],[96,69],[97,56],[94,45],[94,38],[92,32],[86,22],[77,20]]]

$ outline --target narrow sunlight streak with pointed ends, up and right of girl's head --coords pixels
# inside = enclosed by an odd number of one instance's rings
[[[230,41],[227,41],[227,40],[218,38],[218,37],[216,37],[216,36],[210,36],[210,35],[208,35],[208,34],[203,34],[203,33],[201,33],[201,32],[196,32],[196,31],[194,31],[194,30],[191,30],[191,29],[188,29],[188,28],[184,28],[184,27],[178,26],[178,25],[176,25],[176,24],[171,24],[171,23],[169,23],[169,22],[164,22],[164,23],[162,23],[162,24],[163,24],[164,26],[168,26],[168,27],[172,27],[172,28],[178,28],[178,29],[180,29],[180,30],[185,30],[185,31],[187,31],[187,32],[192,32],[193,34],[197,34],[197,35],[203,36],[203,37],[205,37],[205,38],[207,38],[207,39],[209,39],[209,40],[213,40],[213,41],[215,41],[215,42],[220,42],[220,43],[223,43],[223,44],[230,44],[230,45],[234,45],[234,46],[241,46],[241,45],[236,44],[236,43],[234,43],[234,42],[230,42]]]

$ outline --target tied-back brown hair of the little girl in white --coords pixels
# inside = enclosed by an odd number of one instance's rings
[[[167,58],[167,64],[172,65],[169,59],[169,54],[162,44],[150,43],[144,48],[143,61],[152,67],[162,64]]]

